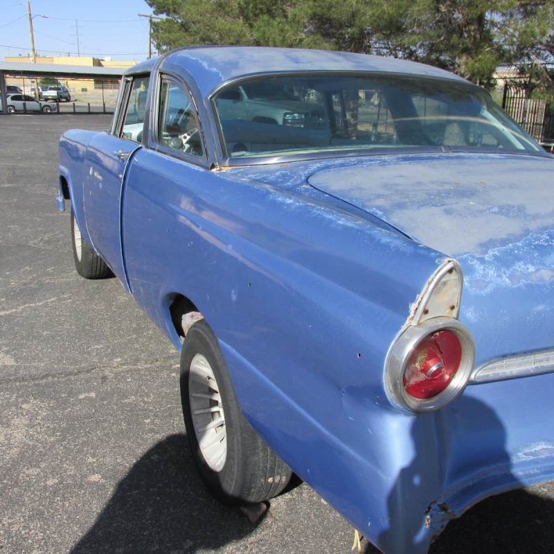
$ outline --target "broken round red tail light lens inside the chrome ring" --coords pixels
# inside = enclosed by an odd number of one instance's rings
[[[449,330],[437,332],[418,343],[404,370],[406,393],[425,400],[442,393],[460,367],[462,347]]]

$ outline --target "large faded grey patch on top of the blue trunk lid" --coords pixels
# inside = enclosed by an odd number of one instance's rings
[[[554,228],[552,159],[437,154],[379,161],[327,168],[308,182],[454,258]]]

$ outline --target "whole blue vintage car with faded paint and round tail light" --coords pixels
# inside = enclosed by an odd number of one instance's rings
[[[181,48],[60,141],[79,274],[181,350],[224,502],[291,472],[384,553],[554,479],[554,157],[488,93],[349,53]]]

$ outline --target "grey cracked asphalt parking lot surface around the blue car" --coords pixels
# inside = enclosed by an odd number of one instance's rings
[[[352,527],[304,483],[258,524],[210,497],[177,351],[116,279],[74,271],[57,139],[110,120],[0,116],[1,554],[350,553]],[[478,504],[431,554],[550,554],[553,524],[546,483]]]

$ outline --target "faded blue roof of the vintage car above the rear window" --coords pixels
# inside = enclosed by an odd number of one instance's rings
[[[177,48],[158,59],[146,60],[126,73],[159,69],[185,69],[193,76],[200,91],[208,96],[221,84],[262,73],[306,71],[350,71],[404,73],[428,77],[465,80],[443,69],[396,60],[391,57],[350,52],[307,50],[304,48],[266,48],[262,46],[195,46]]]

